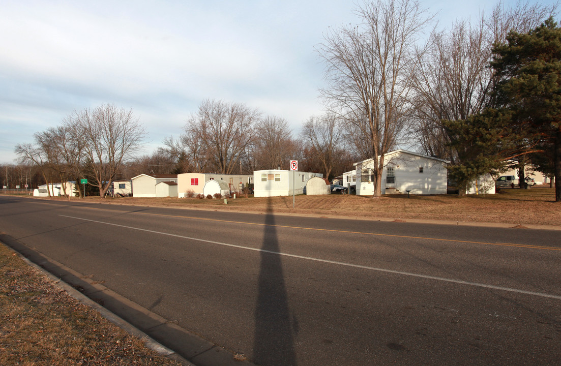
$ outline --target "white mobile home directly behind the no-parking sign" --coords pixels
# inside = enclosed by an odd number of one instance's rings
[[[308,180],[314,177],[323,178],[323,174],[271,169],[256,170],[253,177],[255,197],[274,197],[292,196],[293,192],[302,194]]]

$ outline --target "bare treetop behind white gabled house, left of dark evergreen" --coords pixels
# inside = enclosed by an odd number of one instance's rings
[[[493,107],[491,92],[497,81],[489,68],[493,44],[503,43],[511,30],[534,29],[556,12],[557,4],[505,6],[499,2],[490,16],[481,15],[475,24],[457,21],[450,29],[433,31],[411,73],[416,93],[411,98],[415,113],[410,132],[422,152],[461,163],[458,152],[450,147],[454,136],[442,121],[465,120]]]

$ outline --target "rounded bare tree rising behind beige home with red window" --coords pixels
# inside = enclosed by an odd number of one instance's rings
[[[205,100],[192,115],[181,136],[194,161],[203,159],[222,174],[232,174],[245,151],[254,141],[260,112],[239,103]],[[197,155],[197,156],[195,156]]]

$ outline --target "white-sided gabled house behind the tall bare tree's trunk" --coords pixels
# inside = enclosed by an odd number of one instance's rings
[[[447,163],[446,160],[412,151],[388,152],[384,155],[381,193],[410,191],[411,194],[446,194]],[[360,196],[374,194],[373,159],[366,159],[353,165],[356,166],[356,194]]]

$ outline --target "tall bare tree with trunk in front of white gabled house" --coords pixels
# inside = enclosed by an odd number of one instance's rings
[[[380,197],[384,154],[404,126],[415,44],[429,17],[415,0],[376,0],[357,14],[362,24],[332,31],[319,47],[329,82],[322,94],[368,142],[374,197]]]

